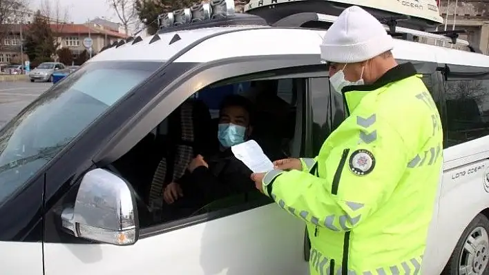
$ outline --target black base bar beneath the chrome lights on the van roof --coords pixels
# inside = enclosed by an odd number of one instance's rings
[[[202,28],[213,28],[213,27],[225,27],[225,26],[269,26],[265,19],[258,17],[253,14],[236,13],[233,16],[225,18],[215,18],[206,21],[194,21],[191,23],[186,23],[178,26],[171,26],[167,28],[160,28],[157,32],[162,34],[165,32],[175,32],[177,30],[195,30]]]

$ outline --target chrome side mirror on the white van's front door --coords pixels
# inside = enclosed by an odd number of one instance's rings
[[[75,206],[61,212],[63,229],[79,238],[113,245],[133,245],[139,237],[132,187],[103,169],[87,172]]]

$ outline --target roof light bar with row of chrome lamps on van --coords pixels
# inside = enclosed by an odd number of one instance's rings
[[[269,26],[265,19],[253,14],[234,11],[233,0],[211,0],[191,8],[167,12],[158,16],[159,34],[175,30],[195,30],[222,26]]]

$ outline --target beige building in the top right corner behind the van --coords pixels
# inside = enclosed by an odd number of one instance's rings
[[[489,0],[442,0],[440,13],[443,19],[447,18],[447,30],[453,26],[455,30],[467,30],[459,38],[489,54]]]

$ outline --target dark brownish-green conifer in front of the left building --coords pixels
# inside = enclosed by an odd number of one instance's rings
[[[38,10],[24,36],[24,47],[32,67],[42,62],[51,61],[56,52],[54,41],[55,37],[52,35],[48,19]]]

